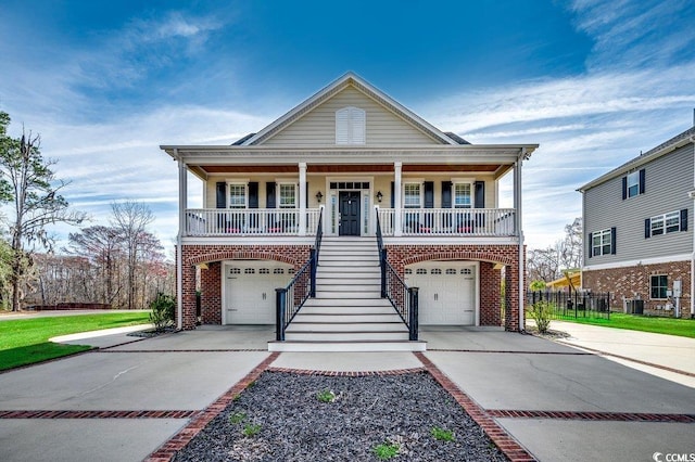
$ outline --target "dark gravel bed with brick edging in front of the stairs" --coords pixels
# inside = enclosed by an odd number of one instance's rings
[[[332,402],[323,402],[318,395]],[[244,429],[258,431],[244,436]],[[432,428],[453,432],[435,439]],[[506,461],[478,424],[426,372],[363,377],[265,372],[175,461]]]

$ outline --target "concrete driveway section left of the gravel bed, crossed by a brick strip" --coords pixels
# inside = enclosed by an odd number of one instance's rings
[[[0,374],[0,461],[140,461],[267,358],[268,335],[71,341],[105,349]]]

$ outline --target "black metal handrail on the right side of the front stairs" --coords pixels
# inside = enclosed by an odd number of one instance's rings
[[[417,341],[418,322],[418,287],[408,287],[405,281],[393,269],[387,259],[383,248],[383,234],[377,208],[377,246],[379,247],[379,265],[381,268],[381,298],[388,298],[401,320],[408,328],[408,339]]]

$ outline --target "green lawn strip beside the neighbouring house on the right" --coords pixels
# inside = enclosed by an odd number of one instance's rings
[[[561,319],[561,321],[695,338],[695,319],[656,318],[611,312],[610,319],[572,318]]]

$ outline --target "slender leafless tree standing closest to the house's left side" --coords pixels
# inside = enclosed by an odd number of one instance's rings
[[[112,226],[118,230],[123,240],[127,256],[127,285],[128,309],[135,308],[136,277],[138,267],[138,254],[147,243],[147,227],[154,220],[150,208],[140,202],[126,201],[111,204],[113,214]]]

